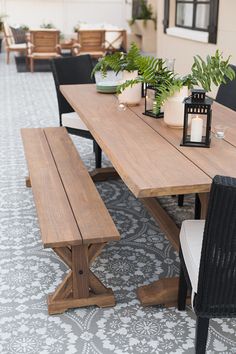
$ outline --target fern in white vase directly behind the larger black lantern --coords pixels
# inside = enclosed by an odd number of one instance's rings
[[[220,86],[226,82],[226,78],[233,80],[235,72],[229,65],[230,56],[223,58],[222,53],[216,50],[215,54],[208,55],[206,60],[201,56],[194,56],[194,62],[190,74],[179,76],[168,70],[165,61],[151,57],[137,59],[139,75],[130,81],[124,82],[118,87],[119,91],[126,89],[135,83],[146,85],[146,101],[148,100],[148,88],[155,91],[152,104],[152,114],[155,118],[163,117],[161,108],[164,109],[164,122],[170,127],[182,128],[184,123],[183,101],[189,96],[189,90],[195,87],[210,92],[212,85]],[[145,103],[146,106],[147,102]]]

